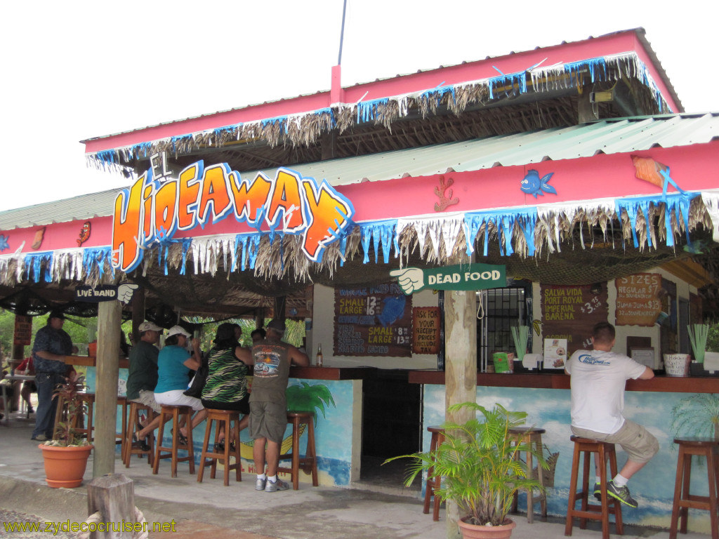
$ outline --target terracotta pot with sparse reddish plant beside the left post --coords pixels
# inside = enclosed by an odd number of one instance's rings
[[[53,392],[53,398],[58,399],[58,405],[60,402],[67,403],[68,413],[65,420],[55,423],[52,440],[43,442],[39,446],[42,450],[42,459],[45,461],[45,481],[52,488],[79,487],[83,482],[88,457],[93,448],[76,427],[83,406],[81,402],[75,400],[77,393],[75,382],[58,384]]]

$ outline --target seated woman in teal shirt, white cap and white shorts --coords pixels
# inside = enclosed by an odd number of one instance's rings
[[[159,405],[191,406],[196,411],[192,418],[192,428],[195,428],[207,417],[207,410],[198,398],[184,393],[190,381],[190,371],[196,371],[201,365],[200,340],[192,339],[192,355],[185,347],[190,337],[182,326],[173,326],[168,331],[165,346],[157,356],[155,401]],[[180,428],[180,435],[187,436],[187,425]]]

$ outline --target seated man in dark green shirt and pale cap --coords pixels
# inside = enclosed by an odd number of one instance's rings
[[[160,354],[160,350],[155,345],[160,341],[162,328],[152,322],[143,322],[137,331],[139,341],[132,347],[129,356],[127,398],[149,406],[159,414],[160,405],[155,401],[155,385],[157,385],[157,354]],[[137,443],[143,449],[149,448],[145,438],[158,426],[160,426],[159,415],[137,432]]]

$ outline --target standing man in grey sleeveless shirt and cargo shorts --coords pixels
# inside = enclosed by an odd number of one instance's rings
[[[255,459],[257,470],[255,490],[265,492],[289,488],[277,476],[280,444],[287,428],[285,390],[290,364],[300,367],[309,367],[310,364],[307,354],[280,340],[284,335],[285,322],[270,321],[265,339],[252,346],[255,373],[252,377],[252,392],[249,394],[249,436],[255,440],[252,447],[252,458]]]

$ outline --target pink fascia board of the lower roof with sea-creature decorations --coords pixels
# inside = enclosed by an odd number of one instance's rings
[[[459,203],[449,206],[446,212],[434,211],[434,203],[438,201],[434,195],[434,188],[439,185],[440,175],[355,183],[336,189],[352,201],[356,211],[354,216],[356,222],[421,215],[441,216],[442,213],[448,212],[482,211],[493,208],[533,207],[538,204],[551,206],[600,198],[661,195],[661,188],[635,177],[631,155],[651,157],[669,166],[672,178],[684,190],[719,188],[716,173],[716,170],[719,170],[719,141],[714,141],[688,147],[656,148],[633,154],[596,155],[533,165],[452,172],[444,176],[454,180],[452,190],[454,197],[459,198]],[[523,193],[519,188],[520,183],[531,169],[537,170],[540,176],[554,172],[549,185],[557,190],[557,195],[546,194],[534,198]],[[321,178],[316,179],[321,180]],[[676,190],[670,187],[668,192],[675,193]],[[112,211],[111,208],[108,208],[108,211]],[[76,240],[83,222],[72,221],[48,225],[39,250],[78,247]],[[94,218],[91,223],[92,235],[83,247],[111,244],[111,217]],[[3,254],[14,252],[22,241],[26,242],[23,252],[33,252],[30,246],[38,228],[0,231],[0,234],[9,236],[10,249]],[[229,217],[216,224],[207,224],[204,229],[178,232],[175,237],[238,234],[254,230]]]

